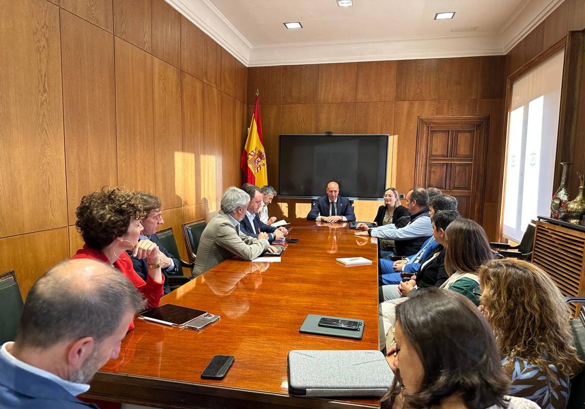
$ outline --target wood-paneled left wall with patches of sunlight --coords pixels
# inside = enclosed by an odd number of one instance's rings
[[[184,251],[181,223],[240,183],[247,68],[163,0],[8,1],[0,19],[0,271],[26,294],[106,185],[159,196]]]

